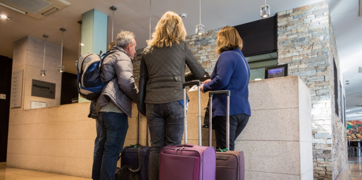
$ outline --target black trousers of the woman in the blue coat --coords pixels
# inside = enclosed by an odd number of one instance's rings
[[[247,114],[234,114],[231,115],[230,120],[230,151],[234,151],[235,139],[241,131],[245,128],[249,121]],[[215,129],[216,136],[216,149],[226,148],[226,116],[215,116],[212,118],[212,126]]]

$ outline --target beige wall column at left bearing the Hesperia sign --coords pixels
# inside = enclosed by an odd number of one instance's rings
[[[10,111],[30,109],[30,102],[45,102],[47,107],[60,104],[62,73],[58,72],[58,65],[61,59],[61,47],[46,42],[44,69],[46,76],[40,76],[44,61],[44,40],[25,36],[14,42],[12,72],[23,70],[22,103],[21,107],[11,108]],[[13,77],[12,77],[13,78]],[[32,96],[32,80],[41,80],[55,83],[55,99],[40,98]],[[13,98],[10,98],[12,102]],[[11,105],[10,105],[11,106]]]

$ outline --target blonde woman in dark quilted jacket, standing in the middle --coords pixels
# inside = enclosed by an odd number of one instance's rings
[[[185,43],[185,37],[186,29],[181,17],[168,11],[142,52],[137,107],[146,115],[150,130],[149,180],[158,180],[161,149],[181,144],[185,65],[191,71],[186,75],[188,79],[199,79],[205,74]]]

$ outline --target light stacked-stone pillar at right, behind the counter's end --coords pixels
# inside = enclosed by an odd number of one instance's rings
[[[279,12],[277,28],[278,64],[288,64],[288,75],[301,77],[311,91],[314,179],[334,180],[346,149],[334,113],[333,57],[339,66],[328,1]]]

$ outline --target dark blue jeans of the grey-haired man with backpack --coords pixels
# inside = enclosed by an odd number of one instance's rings
[[[125,113],[99,112],[102,128],[93,160],[93,180],[114,180],[117,159],[121,153],[128,129]]]

